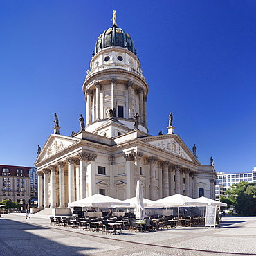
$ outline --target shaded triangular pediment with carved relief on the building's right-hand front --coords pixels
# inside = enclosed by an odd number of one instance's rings
[[[161,149],[166,150],[172,154],[176,154],[177,156],[181,156],[190,161],[193,161],[192,158],[188,154],[188,147],[184,146],[183,143],[179,143],[176,138],[159,138],[156,140],[147,141],[150,145],[154,145],[155,147],[159,147]],[[183,144],[183,145],[182,145]]]

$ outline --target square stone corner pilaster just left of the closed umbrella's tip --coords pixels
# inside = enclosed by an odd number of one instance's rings
[[[126,160],[125,163],[125,174],[126,174],[126,197],[127,199],[134,196],[134,165],[131,161],[134,161],[134,154],[124,154]]]

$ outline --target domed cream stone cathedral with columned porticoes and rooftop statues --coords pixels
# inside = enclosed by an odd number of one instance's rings
[[[80,131],[65,136],[55,114],[54,133],[38,152],[39,208],[64,214],[69,202],[97,193],[129,199],[138,180],[147,199],[177,193],[214,199],[214,166],[201,165],[196,149],[191,152],[174,133],[172,113],[167,134],[148,134],[149,86],[136,55],[114,12],[113,26],[96,41],[82,86],[86,120],[80,115]]]

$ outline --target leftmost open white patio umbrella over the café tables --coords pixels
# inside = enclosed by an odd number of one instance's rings
[[[68,203],[68,207],[82,206],[82,207],[104,207],[109,208],[112,205],[127,205],[129,203],[125,203],[122,200],[115,199],[110,196],[104,196],[102,194],[93,194],[93,196],[85,197],[84,199],[80,199],[71,203]]]

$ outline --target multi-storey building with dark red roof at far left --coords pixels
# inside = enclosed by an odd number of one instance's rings
[[[37,206],[37,168],[0,165],[0,176],[0,201],[10,199],[21,206]]]

